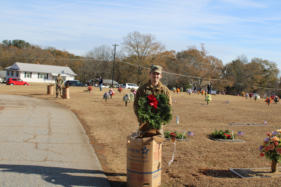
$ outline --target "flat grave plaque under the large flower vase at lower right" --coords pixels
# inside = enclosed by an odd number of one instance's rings
[[[271,172],[271,168],[235,168],[229,170],[234,172],[240,178],[281,177],[281,167],[277,168],[274,173]]]

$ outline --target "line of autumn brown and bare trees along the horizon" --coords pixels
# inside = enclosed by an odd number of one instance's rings
[[[112,79],[115,53],[114,80],[119,84],[144,84],[149,79],[150,66],[155,64],[163,67],[161,82],[170,89],[194,86],[201,91],[211,80],[213,89],[232,95],[242,91],[278,94],[281,88],[280,70],[276,63],[267,59],[249,60],[242,54],[223,65],[220,59],[209,55],[203,43],[200,48],[189,46],[179,52],[167,51],[155,35],[137,31],[124,36],[119,45],[116,53],[112,47],[101,45],[87,51],[85,56],[75,56],[24,40],[4,40],[0,45],[0,70],[15,62],[68,66],[78,74],[75,79],[85,83],[99,76]]]

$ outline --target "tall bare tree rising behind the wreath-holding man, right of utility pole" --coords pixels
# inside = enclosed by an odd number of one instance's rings
[[[132,71],[132,78],[139,86],[141,82],[147,79],[148,70],[151,63],[165,46],[156,41],[156,38],[152,34],[140,34],[137,31],[128,33],[123,38],[122,51],[128,55],[127,60],[129,63],[135,65],[130,66]]]

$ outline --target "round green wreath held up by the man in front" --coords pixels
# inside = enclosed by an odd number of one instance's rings
[[[138,114],[142,121],[148,119],[148,126],[152,126],[155,129],[160,129],[163,125],[170,123],[173,115],[171,111],[173,110],[170,105],[168,105],[168,97],[165,94],[156,94],[156,100],[158,101],[157,109],[148,104],[148,96],[139,98]]]

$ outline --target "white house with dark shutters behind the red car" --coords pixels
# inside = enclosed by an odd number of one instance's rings
[[[59,73],[64,81],[74,80],[75,75],[77,75],[69,67],[19,62],[15,62],[12,66],[4,69],[6,70],[6,80],[17,78],[25,82],[55,83]]]

